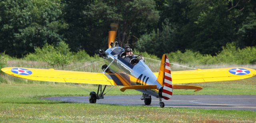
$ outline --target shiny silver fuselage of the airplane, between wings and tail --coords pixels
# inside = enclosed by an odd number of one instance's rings
[[[108,56],[108,61],[106,62],[106,64],[109,65],[114,60],[109,66],[110,72],[118,74],[119,76],[124,78],[124,80],[126,80],[126,84],[128,84],[129,86],[156,85],[158,89],[140,89],[138,91],[150,94],[158,98],[158,90],[159,88],[161,88],[161,85],[157,81],[156,76],[153,74],[150,68],[148,68],[143,60],[140,60],[135,65],[130,64],[130,57],[120,57],[122,52],[124,52],[124,49],[122,47],[113,47],[106,50]]]

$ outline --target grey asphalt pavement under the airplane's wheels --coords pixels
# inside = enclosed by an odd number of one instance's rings
[[[97,100],[100,104],[140,105],[144,106],[141,96],[104,96]],[[74,103],[89,103],[88,96],[49,97],[43,100],[55,100]],[[256,111],[256,96],[229,96],[229,95],[174,95],[170,100],[163,100],[165,107],[250,110]],[[159,99],[152,97],[151,105],[159,106]]]

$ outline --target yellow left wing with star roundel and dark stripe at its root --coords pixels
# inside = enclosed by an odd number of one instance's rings
[[[12,76],[29,80],[123,86],[114,74],[14,67],[1,70]]]

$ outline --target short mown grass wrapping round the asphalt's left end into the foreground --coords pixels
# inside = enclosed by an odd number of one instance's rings
[[[96,90],[96,86],[87,89]],[[119,95],[116,90],[110,95]],[[137,94],[128,91],[123,94]],[[0,84],[0,122],[255,122],[256,111],[159,108],[40,100],[85,96],[66,84]]]

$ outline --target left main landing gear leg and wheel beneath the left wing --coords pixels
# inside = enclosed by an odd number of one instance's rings
[[[96,100],[98,99],[104,99],[104,95],[106,94],[103,94],[104,91],[106,89],[106,85],[104,86],[104,89],[102,90],[102,85],[98,85],[98,91],[97,91],[97,94],[96,92],[90,92],[90,96],[89,96],[89,102],[90,103],[96,103]],[[100,92],[100,94],[99,94]]]

